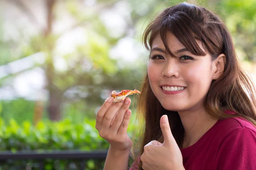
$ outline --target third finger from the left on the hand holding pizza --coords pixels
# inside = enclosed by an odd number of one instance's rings
[[[126,98],[124,101],[124,104],[122,105],[122,108],[117,113],[116,117],[113,119],[113,123],[110,127],[110,129],[113,131],[113,133],[117,133],[119,130],[119,127],[121,126],[125,113],[128,110],[129,106],[131,104],[131,99]]]

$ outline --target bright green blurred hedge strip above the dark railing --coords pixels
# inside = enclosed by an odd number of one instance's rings
[[[95,121],[84,120],[72,124],[65,119],[61,122],[41,121],[33,126],[29,121],[18,125],[14,119],[6,124],[0,119],[0,150],[96,150],[108,148],[94,128]]]

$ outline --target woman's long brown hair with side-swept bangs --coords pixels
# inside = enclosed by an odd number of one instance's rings
[[[205,56],[196,40],[203,43],[205,51],[216,59],[219,54],[225,54],[226,64],[221,77],[213,80],[204,101],[207,112],[218,119],[243,117],[256,126],[256,91],[250,77],[239,65],[239,59],[233,45],[230,32],[221,19],[204,7],[180,3],[166,8],[147,26],[143,34],[143,43],[149,51],[157,34],[160,34],[166,51],[172,55],[167,46],[166,34],[172,33],[194,55]],[[168,115],[172,134],[179,146],[184,137],[184,128],[180,116],[175,111],[163,108],[149,85],[148,74],[145,76],[138,102],[137,113],[143,119],[141,138],[137,143],[141,155],[144,146],[152,141],[163,142],[160,128],[160,117]],[[224,113],[225,110],[236,112],[235,115]],[[135,159],[137,157],[133,155]],[[139,170],[142,170],[140,161]]]

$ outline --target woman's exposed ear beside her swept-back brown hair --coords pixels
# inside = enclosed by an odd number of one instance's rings
[[[224,68],[226,65],[226,56],[225,54],[220,54],[218,57],[213,61],[213,75],[212,79],[218,79],[221,74],[224,72]]]

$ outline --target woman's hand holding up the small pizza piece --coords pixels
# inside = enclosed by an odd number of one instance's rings
[[[113,104],[113,97],[110,97],[97,113],[95,127],[99,131],[99,136],[108,141],[114,150],[128,151],[131,149],[132,142],[127,135],[131,117],[131,110],[128,109],[130,104],[130,98]]]

